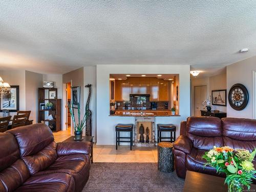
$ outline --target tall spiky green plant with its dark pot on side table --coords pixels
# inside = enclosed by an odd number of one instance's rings
[[[83,115],[83,117],[81,119],[80,103],[77,103],[78,122],[76,123],[75,116],[74,116],[74,106],[73,106],[73,103],[72,103],[72,107],[69,106],[69,110],[70,110],[70,115],[71,115],[71,118],[73,120],[74,130],[75,130],[75,132],[74,132],[74,134],[75,134],[74,140],[82,140],[82,130],[86,126],[86,119],[87,119],[88,113],[84,113],[84,115]]]

